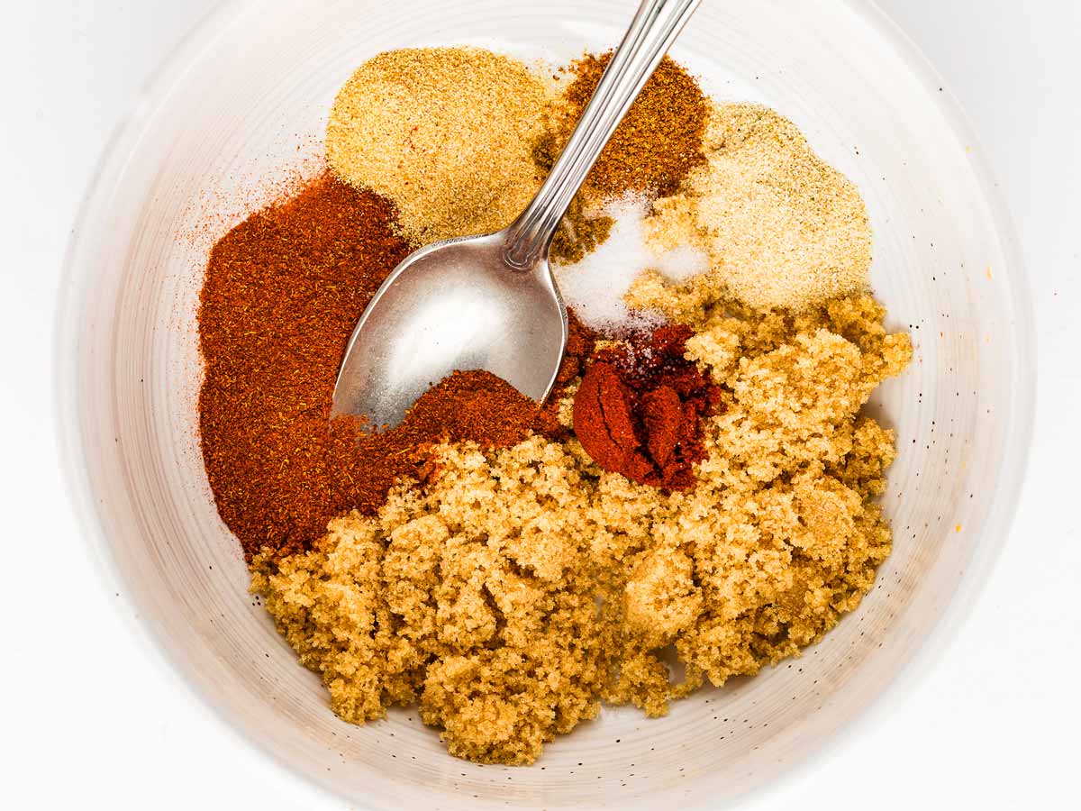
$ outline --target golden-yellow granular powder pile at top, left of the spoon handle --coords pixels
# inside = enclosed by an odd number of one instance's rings
[[[477,48],[411,48],[365,62],[326,128],[335,174],[398,208],[415,244],[509,225],[544,180],[532,159],[549,83]]]

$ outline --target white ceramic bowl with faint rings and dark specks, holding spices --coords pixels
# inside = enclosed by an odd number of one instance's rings
[[[876,291],[916,343],[911,369],[873,404],[900,451],[884,497],[894,553],[878,585],[802,659],[702,691],[664,719],[606,708],[531,768],[455,760],[414,713],[364,728],[330,713],[248,596],[203,475],[195,307],[206,249],[267,199],[267,178],[313,152],[335,90],[368,56],[476,43],[563,61],[616,42],[629,12],[611,0],[230,2],[155,77],[83,207],[57,361],[88,535],[171,666],[278,762],[357,806],[723,805],[820,749],[917,669],[1009,524],[1032,412],[1031,315],[963,117],[872,6],[709,0],[673,55],[716,95],[792,118],[859,185]]]

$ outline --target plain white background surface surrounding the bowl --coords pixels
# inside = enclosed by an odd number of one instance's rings
[[[84,551],[55,461],[53,303],[79,200],[147,75],[213,4],[4,3],[0,806],[6,808],[341,807],[265,761],[132,638]],[[1005,553],[945,656],[878,727],[865,726],[744,807],[1077,808],[1081,2],[882,4],[974,120],[1017,223],[1039,331],[1035,447]]]

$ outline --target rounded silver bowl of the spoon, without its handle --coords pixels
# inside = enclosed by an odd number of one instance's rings
[[[566,309],[543,257],[505,261],[508,230],[435,242],[410,254],[376,292],[346,349],[335,414],[397,425],[433,384],[484,369],[526,397],[548,396],[566,345]],[[377,422],[376,422],[377,421]]]

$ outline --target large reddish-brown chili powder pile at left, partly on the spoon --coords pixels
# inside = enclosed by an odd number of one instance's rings
[[[393,216],[385,199],[324,176],[211,252],[199,308],[201,444],[218,513],[249,558],[306,549],[331,518],[374,513],[398,479],[417,475],[433,442],[498,447],[558,430],[550,408],[485,372],[452,375],[390,431],[369,436],[356,420],[331,420],[346,342],[410,250]],[[563,383],[591,351],[591,335],[574,323]]]

